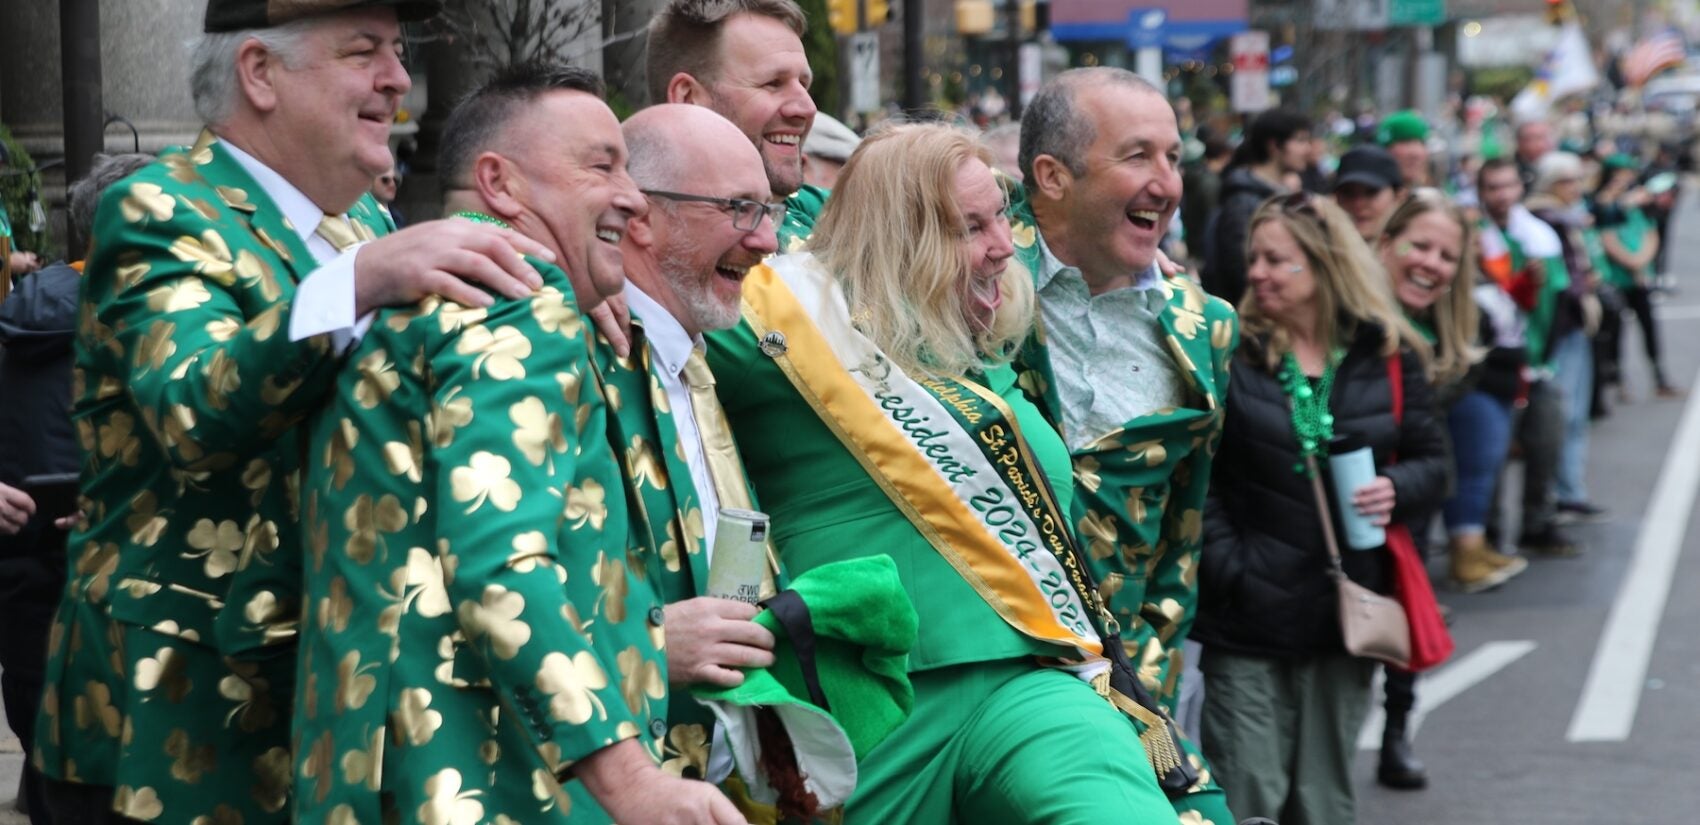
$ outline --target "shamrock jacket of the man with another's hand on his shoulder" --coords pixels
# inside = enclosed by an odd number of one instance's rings
[[[656,754],[660,602],[585,318],[532,265],[529,299],[382,313],[314,420],[301,822],[605,822],[556,776]]]

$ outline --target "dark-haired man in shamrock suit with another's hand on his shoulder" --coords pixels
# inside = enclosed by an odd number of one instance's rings
[[[549,250],[524,299],[379,316],[313,425],[303,822],[741,822],[658,765],[648,551],[585,313],[646,208],[595,75],[500,71],[449,117],[445,208]]]

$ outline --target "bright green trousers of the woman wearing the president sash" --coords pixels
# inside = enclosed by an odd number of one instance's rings
[[[858,765],[847,825],[1163,823],[1134,725],[1032,660],[910,674],[915,711]]]

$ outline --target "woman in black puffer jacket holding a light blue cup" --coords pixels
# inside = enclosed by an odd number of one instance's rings
[[[1428,344],[1396,310],[1345,213],[1306,194],[1268,201],[1251,219],[1250,260],[1244,339],[1204,517],[1193,631],[1205,646],[1204,750],[1238,815],[1350,825],[1375,663],[1341,641],[1302,444],[1324,468],[1329,435],[1374,449],[1379,475],[1353,500],[1379,524],[1438,507],[1447,444],[1425,379]],[[1399,424],[1389,357],[1402,371]],[[1341,553],[1355,582],[1392,590],[1386,548]]]

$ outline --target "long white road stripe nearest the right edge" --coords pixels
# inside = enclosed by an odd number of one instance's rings
[[[1571,742],[1624,742],[1635,726],[1652,641],[1688,534],[1695,490],[1700,488],[1700,396],[1688,400],[1666,456],[1652,500],[1640,517],[1629,575],[1612,602],[1583,699],[1571,716],[1566,735]]]

